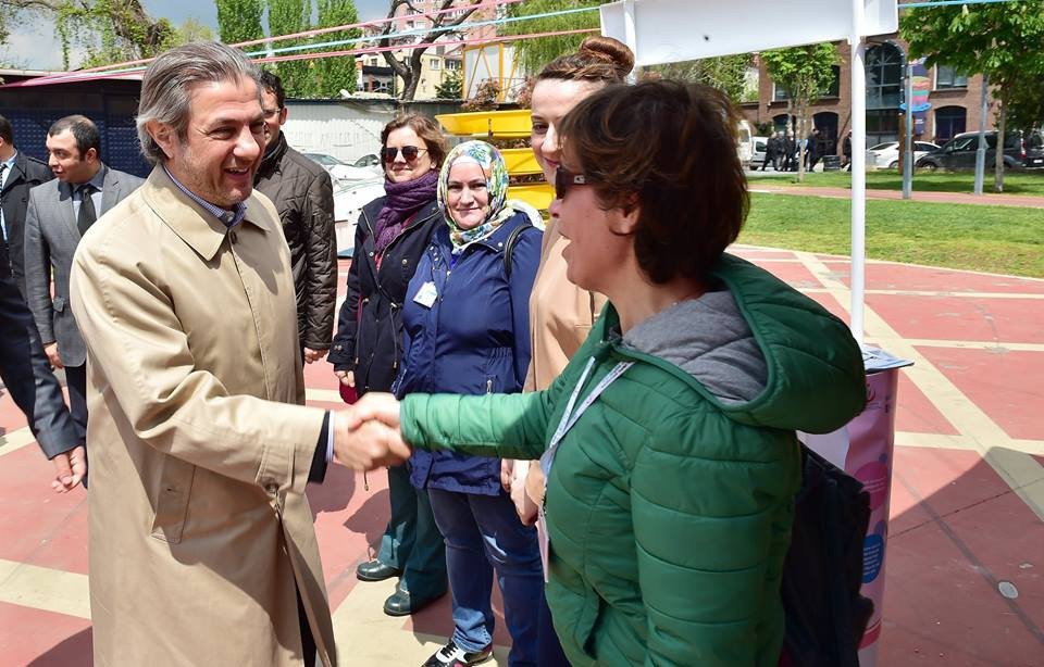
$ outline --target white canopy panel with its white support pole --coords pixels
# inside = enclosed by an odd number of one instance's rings
[[[749,53],[847,39],[852,45],[852,332],[863,339],[867,85],[862,38],[895,33],[897,0],[622,0],[604,4],[602,35],[636,65]],[[772,29],[750,30],[757,24]]]

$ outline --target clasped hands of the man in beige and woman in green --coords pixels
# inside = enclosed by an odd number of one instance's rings
[[[334,461],[352,470],[399,465],[413,450],[399,431],[399,401],[371,392],[334,419]]]

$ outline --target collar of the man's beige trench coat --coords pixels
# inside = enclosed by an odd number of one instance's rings
[[[163,223],[192,250],[207,260],[217,254],[228,229],[224,223],[194,202],[174,185],[162,166],[157,165],[141,186],[141,197]],[[265,214],[264,204],[256,193],[246,201],[247,216],[243,224],[250,224],[261,231],[274,229],[274,223]]]

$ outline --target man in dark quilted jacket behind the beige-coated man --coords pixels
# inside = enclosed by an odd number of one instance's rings
[[[330,174],[286,143],[282,126],[287,110],[279,77],[262,72],[264,156],[254,187],[279,212],[290,247],[297,288],[297,325],[304,362],[326,355],[334,332],[337,301],[337,239],[334,232],[334,190]]]

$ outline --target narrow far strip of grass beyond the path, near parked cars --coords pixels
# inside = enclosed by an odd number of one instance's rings
[[[812,188],[850,188],[852,174],[848,172],[815,172],[805,175],[805,183],[796,183],[796,177],[788,176],[757,176],[747,174],[750,184],[791,186],[803,185]],[[913,174],[913,191],[921,192],[968,192],[974,189],[975,175],[973,172],[917,172]],[[898,172],[882,169],[867,172],[867,188],[874,190],[902,190],[903,177]],[[986,178],[982,186],[989,197],[993,193],[993,171],[986,169]],[[1005,194],[1036,194],[1044,196],[1044,172],[1005,172]]]

